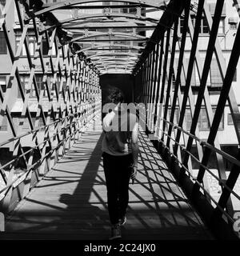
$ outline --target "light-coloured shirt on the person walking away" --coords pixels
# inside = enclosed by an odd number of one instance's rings
[[[110,120],[112,120],[110,122]],[[127,111],[110,112],[102,121],[102,151],[112,155],[131,154],[131,135],[138,118]],[[108,125],[110,123],[110,125]]]

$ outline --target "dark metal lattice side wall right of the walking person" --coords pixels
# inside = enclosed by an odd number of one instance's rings
[[[190,18],[190,4],[190,1],[185,1],[184,10],[178,16],[173,12],[170,20],[174,30],[164,30],[163,27],[162,30],[160,29],[162,33],[158,33],[158,38],[155,38],[157,42],[145,51],[144,57],[146,58],[140,59],[134,69],[134,74],[139,76],[138,81],[142,78],[142,102],[148,105],[146,125],[155,146],[165,156],[166,162],[185,188],[186,194],[205,216],[206,222],[213,227],[215,234],[218,237],[226,238],[229,235],[229,230],[234,230],[236,221],[234,214],[238,211],[240,204],[240,195],[236,186],[240,158],[239,151],[237,155],[230,155],[222,150],[218,138],[221,133],[218,132],[218,127],[223,110],[228,103],[231,117],[234,120],[236,143],[239,146],[240,113],[232,81],[240,54],[238,49],[240,32],[238,27],[230,60],[226,66],[218,39],[218,26],[224,1],[216,2],[212,18],[206,1],[199,0],[198,5],[195,6],[197,9],[194,24]],[[236,7],[236,11],[239,10],[238,1],[234,1],[233,6]],[[181,33],[180,16],[183,21]],[[202,17],[206,18],[209,30],[209,41],[203,61],[198,49]],[[186,37],[191,43],[188,63],[185,56]],[[222,78],[215,113],[210,102],[211,89],[207,86],[213,56],[217,59]],[[199,78],[197,92],[194,85],[191,84],[194,66],[196,66]],[[206,140],[201,138],[198,129],[202,107],[206,110],[210,126]],[[186,108],[190,108],[190,130],[186,129]],[[179,115],[177,111],[179,111]],[[197,149],[197,155],[193,154],[194,147]],[[217,172],[210,167],[210,156],[213,154],[217,161]],[[199,170],[197,172],[193,171],[193,160],[198,162]],[[228,174],[224,165],[225,160],[232,164]],[[218,181],[221,186],[218,197],[211,194],[208,176]],[[224,234],[224,232],[226,233]]]

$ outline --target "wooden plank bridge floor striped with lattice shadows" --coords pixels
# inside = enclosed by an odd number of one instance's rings
[[[6,218],[5,238],[108,239],[102,126],[97,122],[97,130],[89,126]],[[130,185],[122,239],[212,239],[143,132],[139,141],[139,171]]]

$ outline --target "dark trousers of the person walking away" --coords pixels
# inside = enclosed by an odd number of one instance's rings
[[[106,178],[107,205],[111,224],[126,214],[129,201],[129,182],[131,174],[132,154],[114,156],[103,153],[103,168]]]

